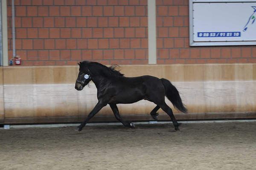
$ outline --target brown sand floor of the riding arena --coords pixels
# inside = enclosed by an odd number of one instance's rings
[[[256,122],[0,129],[0,170],[256,170]]]

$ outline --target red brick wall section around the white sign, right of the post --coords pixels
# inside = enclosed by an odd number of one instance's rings
[[[189,0],[156,0],[157,63],[256,63],[256,46],[189,47]]]

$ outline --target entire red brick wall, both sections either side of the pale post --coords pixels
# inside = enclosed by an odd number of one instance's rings
[[[156,0],[157,63],[256,63],[256,46],[189,47],[189,0]],[[15,0],[22,65],[148,63],[147,0]],[[8,0],[9,59],[12,11]]]

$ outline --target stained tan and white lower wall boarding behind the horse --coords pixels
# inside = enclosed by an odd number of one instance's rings
[[[256,118],[256,64],[121,67],[126,77],[152,75],[171,81],[189,112],[173,109],[177,119]],[[8,66],[0,72],[0,123],[80,122],[97,103],[94,84],[80,92],[74,88],[78,66]],[[155,105],[144,100],[118,106],[124,119],[148,121]],[[159,119],[169,117],[160,114]],[[92,121],[116,119],[106,106]]]

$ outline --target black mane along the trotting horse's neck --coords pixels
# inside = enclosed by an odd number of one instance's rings
[[[113,77],[123,77],[124,74],[120,73],[120,70],[116,70],[116,67],[118,67],[118,65],[111,65],[109,67],[102,65],[101,63],[97,63],[97,62],[91,62],[91,61],[83,61],[80,62],[80,64],[82,65],[86,65],[88,66],[88,68],[90,69],[90,72],[92,72],[92,74],[103,74],[108,78],[113,78]]]

